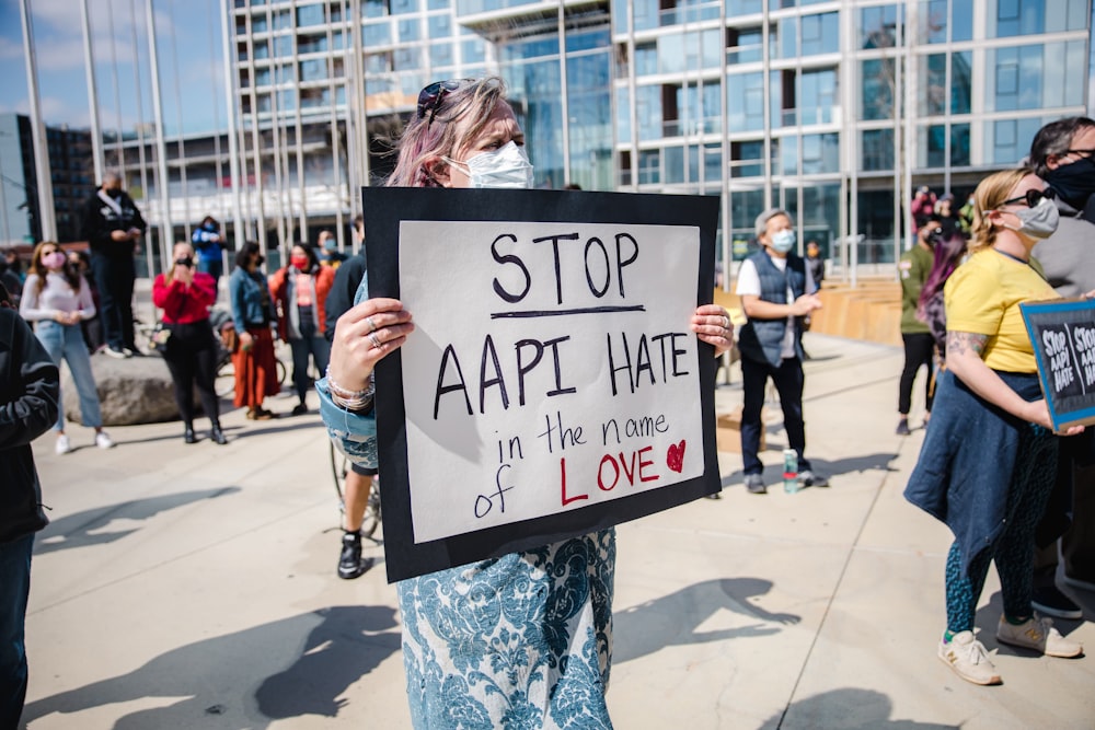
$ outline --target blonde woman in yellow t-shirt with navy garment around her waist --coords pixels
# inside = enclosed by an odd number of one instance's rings
[[[1004,603],[998,641],[1051,657],[1083,652],[1030,607],[1035,528],[1057,463],[1057,437],[1019,312],[1021,302],[1057,298],[1030,260],[1035,244],[1057,230],[1057,207],[1044,187],[1028,170],[1014,170],[990,175],[973,193],[970,257],[944,287],[947,370],[904,493],[955,534],[938,657],[975,684],[1000,683],[973,637],[990,561]]]

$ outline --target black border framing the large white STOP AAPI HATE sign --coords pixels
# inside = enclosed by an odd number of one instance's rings
[[[400,223],[417,221],[528,221],[689,225],[700,229],[696,304],[714,296],[719,198],[577,190],[496,190],[362,187],[370,297],[400,296]],[[413,312],[412,312],[413,314]],[[682,323],[684,326],[684,323]],[[715,445],[714,348],[700,345],[700,399],[704,473],[670,487],[620,497],[564,513],[522,520],[426,543],[411,522],[407,441],[401,352],[377,367],[377,439],[388,581],[531,549],[646,517],[719,491]]]

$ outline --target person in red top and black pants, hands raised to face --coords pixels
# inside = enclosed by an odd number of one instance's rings
[[[175,403],[183,417],[183,440],[194,443],[194,386],[201,408],[209,417],[209,439],[224,445],[228,439],[220,428],[220,404],[214,390],[217,376],[217,341],[209,324],[209,308],[217,300],[212,276],[195,269],[194,248],[176,243],[173,262],[166,274],[152,283],[152,302],[163,310],[168,335],[163,359],[175,386]]]

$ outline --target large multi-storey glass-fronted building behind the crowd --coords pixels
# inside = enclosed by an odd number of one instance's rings
[[[233,0],[228,12],[238,182],[221,184],[223,160],[208,157],[170,175],[239,193],[272,248],[345,230],[356,190],[391,166],[384,140],[438,79],[506,80],[538,186],[718,196],[735,260],[757,213],[780,206],[845,271],[896,259],[917,187],[960,205],[1044,123],[1090,108],[1091,0]]]

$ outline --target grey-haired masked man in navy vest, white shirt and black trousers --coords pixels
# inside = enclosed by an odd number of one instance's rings
[[[771,378],[783,406],[783,428],[787,444],[798,453],[798,482],[806,487],[825,487],[825,477],[814,473],[803,455],[806,428],[803,424],[803,324],[806,315],[821,308],[818,286],[806,263],[792,253],[795,229],[791,215],[772,208],[757,217],[757,241],[762,246],[738,271],[737,293],[749,322],[741,328],[741,380],[745,408],[741,412],[741,459],[746,488],[754,495],[768,491],[762,473],[760,412],[764,387]]]

